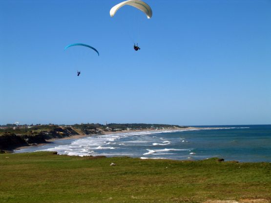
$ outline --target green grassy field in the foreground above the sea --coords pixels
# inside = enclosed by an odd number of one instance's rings
[[[110,166],[110,163],[116,163]],[[271,163],[0,154],[0,203],[271,201]]]

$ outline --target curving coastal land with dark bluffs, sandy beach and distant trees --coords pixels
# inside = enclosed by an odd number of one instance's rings
[[[109,127],[108,127],[109,126]],[[123,133],[174,132],[189,130],[218,129],[218,127],[180,126],[163,124],[116,124],[107,127],[101,124],[37,125],[29,128],[18,127],[0,131],[0,153],[12,152],[21,148],[50,144],[57,140],[77,140],[96,135]],[[128,128],[128,126],[130,128]],[[121,130],[123,129],[123,130]],[[113,131],[111,131],[113,130]],[[117,131],[114,131],[117,130]]]

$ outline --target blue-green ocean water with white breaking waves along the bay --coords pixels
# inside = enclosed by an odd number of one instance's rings
[[[226,161],[271,162],[271,125],[195,127],[205,129],[140,131],[58,140],[42,146],[15,150],[15,153],[45,150],[77,156],[130,156],[173,160],[219,157]]]

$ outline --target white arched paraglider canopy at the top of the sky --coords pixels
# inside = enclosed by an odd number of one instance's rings
[[[151,10],[150,6],[142,0],[125,0],[125,1],[121,2],[111,8],[110,16],[113,17],[115,15],[115,13],[121,7],[123,7],[125,5],[133,6],[137,9],[141,10],[142,12],[144,12],[146,14],[148,19],[150,19],[152,17],[152,10]]]

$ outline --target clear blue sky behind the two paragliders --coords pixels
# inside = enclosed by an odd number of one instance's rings
[[[271,124],[271,0],[119,2],[0,0],[0,124]]]

